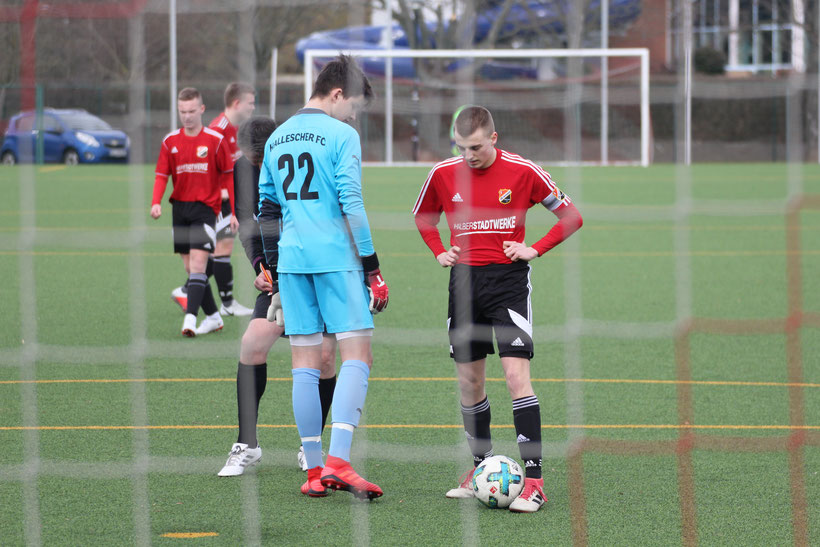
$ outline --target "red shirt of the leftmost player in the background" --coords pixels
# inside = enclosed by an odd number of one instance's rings
[[[200,201],[219,214],[222,210],[222,178],[233,173],[233,159],[225,139],[213,129],[203,127],[189,137],[180,128],[162,140],[154,177],[152,205],[162,202],[168,177],[173,190],[168,201]],[[229,193],[233,209],[233,185]]]

